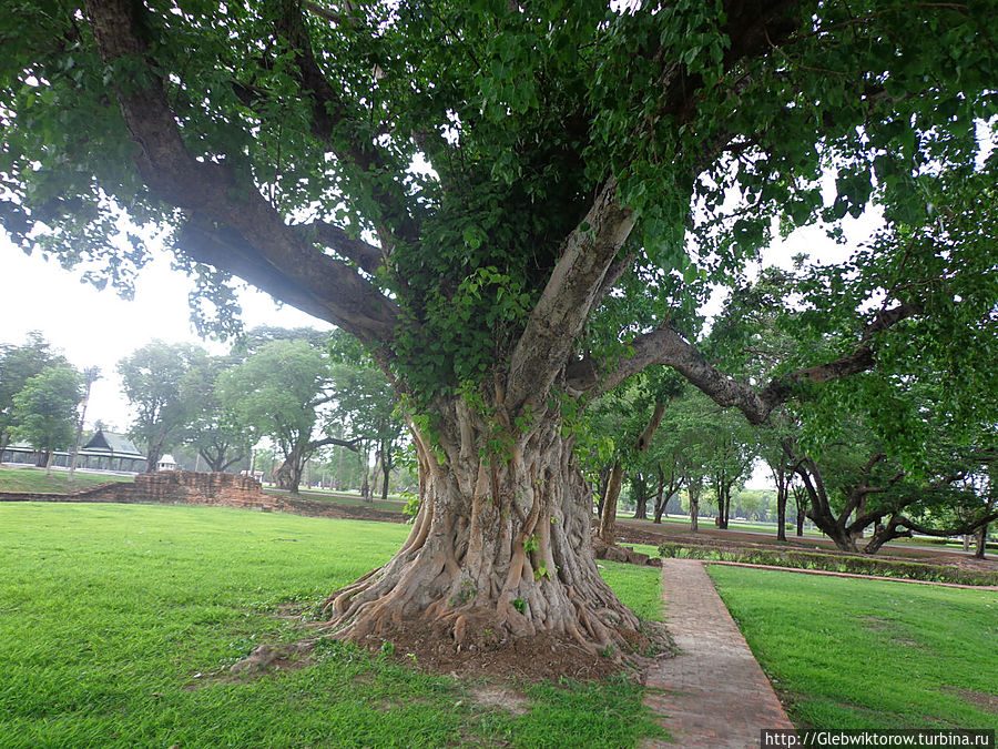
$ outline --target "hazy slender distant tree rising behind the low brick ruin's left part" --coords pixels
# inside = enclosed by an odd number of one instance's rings
[[[134,417],[129,434],[146,451],[146,470],[155,470],[163,453],[177,443],[192,404],[182,383],[207,352],[186,343],[153,341],[118,363],[122,392]]]

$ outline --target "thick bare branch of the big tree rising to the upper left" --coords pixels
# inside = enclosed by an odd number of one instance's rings
[[[93,36],[104,62],[145,60],[135,29],[141,4],[129,0],[90,0]],[[395,305],[348,265],[310,246],[299,232],[224,164],[194,160],[184,146],[163,83],[147,65],[140,85],[119,80],[122,115],[139,146],[135,163],[150,190],[192,214],[181,232],[181,250],[198,262],[235,273],[277,298],[336,323],[359,338],[390,337]]]

